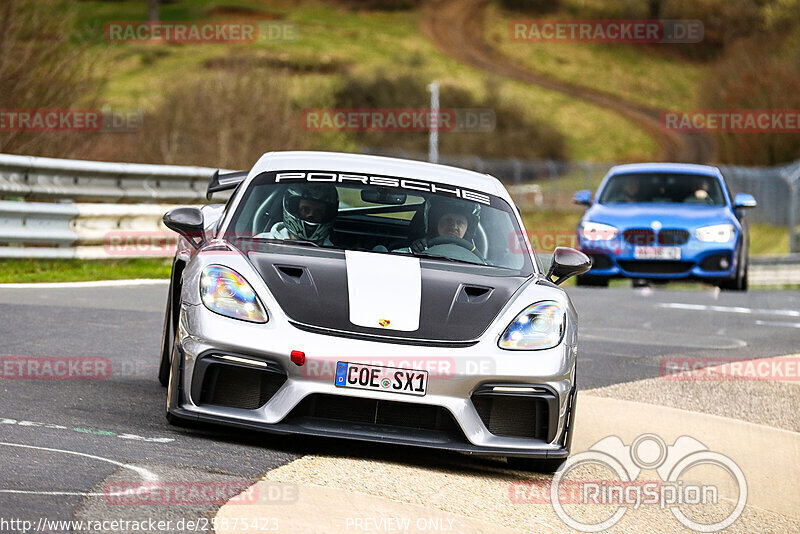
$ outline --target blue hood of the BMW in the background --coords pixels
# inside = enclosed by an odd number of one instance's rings
[[[663,228],[698,228],[709,224],[732,223],[727,206],[682,204],[595,204],[584,220],[610,224],[617,228],[649,228],[655,221]]]

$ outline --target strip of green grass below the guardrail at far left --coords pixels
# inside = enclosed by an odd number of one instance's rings
[[[171,259],[0,260],[0,283],[83,282],[89,280],[168,279]]]

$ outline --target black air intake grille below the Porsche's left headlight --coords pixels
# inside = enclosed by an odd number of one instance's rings
[[[201,404],[255,410],[286,382],[286,376],[260,369],[214,363],[206,371]]]

